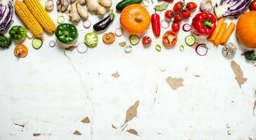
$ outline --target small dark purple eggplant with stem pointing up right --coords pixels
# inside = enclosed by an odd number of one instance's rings
[[[107,29],[110,26],[110,24],[114,21],[114,19],[115,19],[115,14],[113,10],[111,10],[108,17],[104,18],[103,20],[97,22],[94,25],[94,31],[103,31]]]

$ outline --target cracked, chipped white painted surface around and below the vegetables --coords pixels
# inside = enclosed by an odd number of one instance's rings
[[[117,1],[113,1],[115,8]],[[148,9],[153,13],[152,5]],[[59,14],[51,13],[55,22]],[[119,27],[119,16],[107,32]],[[98,21],[96,15],[90,19],[93,24]],[[16,16],[14,20],[13,25],[20,25]],[[92,31],[84,29],[82,22],[78,30],[82,30],[79,42]],[[184,45],[188,34],[180,32],[177,46]],[[147,35],[153,37],[151,29]],[[225,59],[221,47],[212,48],[210,43],[205,57],[187,46],[184,52],[179,47],[157,52],[154,46],[161,43],[160,38],[154,38],[151,48],[136,45],[126,54],[118,45],[128,43],[128,36],[122,36],[113,45],[100,41],[85,54],[67,51],[69,59],[61,49],[48,46],[54,35],[45,36],[40,50],[34,50],[26,39],[29,54],[23,59],[13,56],[14,43],[9,50],[0,50],[0,140],[256,139],[252,113],[256,67],[240,55],[243,48],[235,34],[231,41],[240,50],[233,60],[248,78],[241,88],[231,70],[231,59]],[[111,76],[115,71],[119,78]],[[184,86],[172,90],[165,81],[168,76],[184,78]],[[126,111],[137,100],[137,117],[122,131]],[[87,116],[90,123],[81,123]],[[140,137],[129,134],[131,129]],[[75,130],[81,135],[74,135]]]

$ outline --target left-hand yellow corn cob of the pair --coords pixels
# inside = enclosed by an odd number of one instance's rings
[[[43,38],[43,28],[34,18],[30,10],[28,10],[25,3],[23,3],[22,1],[15,1],[14,8],[17,15],[20,17],[26,27],[30,29],[32,34],[37,38]]]

